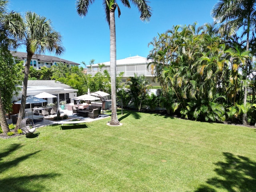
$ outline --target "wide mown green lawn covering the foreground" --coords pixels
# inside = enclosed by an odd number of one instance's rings
[[[2,192],[253,192],[256,130],[125,111],[0,139]]]

